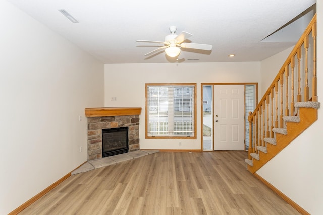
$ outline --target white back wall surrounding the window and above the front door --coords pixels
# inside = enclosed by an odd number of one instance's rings
[[[200,149],[201,83],[259,82],[260,62],[105,64],[104,77],[105,107],[142,108],[141,149]],[[197,84],[197,139],[145,139],[145,83]]]

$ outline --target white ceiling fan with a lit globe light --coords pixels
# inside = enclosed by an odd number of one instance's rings
[[[165,41],[152,41],[152,40],[137,40],[136,42],[149,42],[149,43],[161,43],[164,44],[163,47],[157,48],[153,51],[150,51],[149,53],[145,54],[144,56],[147,56],[149,54],[152,54],[156,51],[165,49],[165,52],[170,57],[176,57],[180,54],[181,49],[180,48],[192,48],[192,49],[200,49],[200,50],[212,50],[212,45],[207,44],[198,44],[198,43],[184,43],[187,38],[193,36],[192,34],[182,31],[179,35],[175,34],[177,27],[171,26],[170,28],[170,35],[167,35],[165,37]]]

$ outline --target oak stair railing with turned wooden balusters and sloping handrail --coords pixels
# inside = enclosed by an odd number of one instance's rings
[[[296,43],[254,112],[249,112],[249,150],[265,146],[264,138],[274,138],[273,128],[284,128],[284,116],[295,116],[295,102],[317,101],[316,14]],[[268,152],[270,153],[270,152]]]

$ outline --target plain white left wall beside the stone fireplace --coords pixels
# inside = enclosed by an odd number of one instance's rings
[[[87,160],[84,108],[104,105],[104,65],[3,0],[0,27],[0,214],[8,214]]]

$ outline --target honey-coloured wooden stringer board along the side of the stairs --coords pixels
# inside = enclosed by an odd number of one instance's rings
[[[253,174],[268,161],[274,158],[280,151],[289,145],[297,136],[306,130],[317,120],[317,109],[300,107],[300,122],[286,122],[287,134],[276,133],[276,145],[266,144],[267,153],[259,151],[259,161],[252,159],[253,166],[247,165],[248,170]]]

